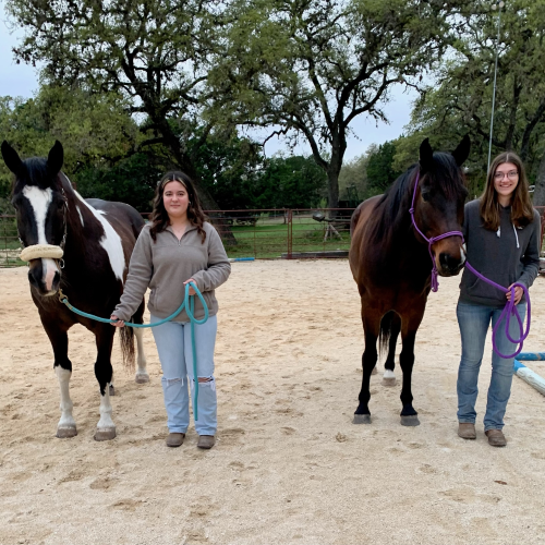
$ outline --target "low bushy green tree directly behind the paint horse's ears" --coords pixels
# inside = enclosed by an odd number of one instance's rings
[[[77,86],[43,86],[35,98],[0,97],[0,138],[23,157],[47,156],[55,140],[64,147],[64,171],[73,182],[90,166],[108,168],[137,147],[142,136],[116,95],[97,96]],[[12,174],[0,161],[0,196]]]

